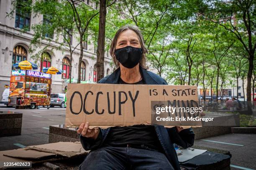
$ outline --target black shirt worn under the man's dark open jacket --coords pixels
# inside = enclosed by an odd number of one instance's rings
[[[119,78],[119,84],[128,84]],[[143,79],[132,84],[145,84]],[[162,147],[152,125],[116,126],[110,129],[103,147],[131,147],[157,150]]]

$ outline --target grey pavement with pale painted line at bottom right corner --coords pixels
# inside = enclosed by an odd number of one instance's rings
[[[256,169],[256,134],[230,133],[195,140],[194,145],[230,151],[231,170]]]

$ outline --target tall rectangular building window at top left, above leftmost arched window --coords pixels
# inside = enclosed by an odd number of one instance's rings
[[[28,29],[30,28],[30,15],[31,12],[25,9],[27,0],[17,0],[16,15],[15,15],[15,28]]]

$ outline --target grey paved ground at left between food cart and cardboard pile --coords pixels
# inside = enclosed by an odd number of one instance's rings
[[[1,106],[0,110],[23,113],[21,135],[0,138],[0,150],[12,150],[48,143],[49,126],[64,124],[66,108],[15,109]]]

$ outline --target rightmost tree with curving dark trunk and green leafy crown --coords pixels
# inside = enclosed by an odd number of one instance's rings
[[[251,78],[256,49],[255,0],[215,0],[206,1],[201,8],[202,16],[232,33],[243,45],[249,61],[247,74],[247,101],[251,101]]]

